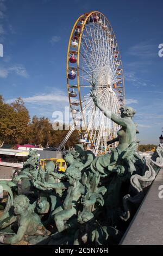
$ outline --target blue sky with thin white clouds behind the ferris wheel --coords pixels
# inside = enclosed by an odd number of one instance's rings
[[[163,43],[161,0],[55,1],[0,0],[0,93],[21,96],[30,116],[68,106],[66,54],[79,15],[101,11],[110,21],[121,51],[127,105],[137,111],[141,143],[156,143],[163,126]]]

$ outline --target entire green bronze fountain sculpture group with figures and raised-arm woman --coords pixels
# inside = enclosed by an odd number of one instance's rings
[[[103,108],[93,90],[96,107],[121,126],[118,147],[99,157],[77,144],[65,155],[65,173],[54,163],[39,166],[36,150],[12,181],[1,181],[8,194],[0,201],[0,243],[35,245],[112,245],[120,242],[145,194],[163,166],[163,149],[151,159],[137,153],[135,111],[120,108],[121,117]],[[111,141],[111,142],[114,142]],[[111,143],[110,142],[110,143]],[[18,182],[21,180],[21,188]]]

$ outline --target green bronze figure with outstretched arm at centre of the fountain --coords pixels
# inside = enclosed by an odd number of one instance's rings
[[[106,188],[98,187],[100,175],[91,174],[86,175],[80,171],[80,166],[83,163],[73,159],[71,154],[65,156],[65,160],[70,163],[70,166],[66,169],[66,177],[68,182],[48,183],[48,182],[34,182],[34,186],[43,191],[46,190],[67,190],[66,198],[61,206],[55,209],[51,218],[54,219],[58,231],[61,232],[68,228],[66,221],[72,216],[77,217],[79,209],[82,206],[82,211],[94,211],[95,203],[98,205],[104,205],[103,195],[106,192]],[[81,211],[81,209],[80,209]]]

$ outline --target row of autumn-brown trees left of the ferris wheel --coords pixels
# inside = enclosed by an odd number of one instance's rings
[[[19,97],[11,104],[5,103],[0,95],[0,146],[5,142],[9,144],[30,143],[42,147],[58,147],[68,131],[53,130],[48,118],[38,118],[34,115],[30,121],[29,112]],[[64,125],[65,126],[65,125]],[[77,131],[74,131],[65,148],[73,147],[79,140]]]

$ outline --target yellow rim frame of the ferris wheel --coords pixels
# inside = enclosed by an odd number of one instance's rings
[[[69,87],[69,78],[68,78],[68,68],[69,68],[69,54],[70,54],[70,46],[71,46],[71,40],[72,40],[72,35],[73,35],[73,32],[79,22],[79,20],[84,17],[85,20],[83,22],[83,24],[80,24],[80,26],[82,26],[82,29],[81,29],[81,32],[80,32],[80,35],[79,35],[79,41],[78,41],[78,50],[77,50],[77,86],[78,86],[78,94],[79,94],[79,101],[80,101],[80,109],[81,109],[81,112],[82,112],[82,117],[83,117],[83,121],[84,121],[84,126],[85,126],[85,130],[87,132],[87,135],[90,139],[90,142],[91,142],[91,145],[92,147],[95,147],[95,145],[93,144],[92,142],[92,139],[91,139],[91,136],[90,136],[90,133],[89,131],[87,130],[87,126],[86,126],[86,122],[85,122],[85,117],[84,117],[84,113],[83,113],[83,106],[82,106],[82,100],[81,100],[81,95],[80,95],[80,78],[79,78],[79,56],[80,56],[80,44],[81,44],[81,39],[82,39],[82,33],[83,33],[83,29],[85,27],[85,24],[86,24],[86,21],[89,19],[89,17],[93,14],[93,13],[96,13],[96,14],[101,14],[105,19],[106,21],[109,23],[111,29],[112,29],[112,26],[109,22],[109,20],[106,18],[106,16],[101,13],[100,11],[90,11],[89,14],[85,17],[85,13],[80,15],[78,17],[78,19],[76,20],[76,22],[74,23],[74,26],[72,28],[72,31],[71,31],[71,34],[70,34],[70,39],[68,41],[68,50],[67,50],[67,68],[66,68],[66,75],[67,75],[67,91],[68,91],[68,100],[69,100],[69,103],[70,103],[70,107],[72,105],[71,103],[71,98],[70,98],[70,87]],[[114,30],[112,29],[112,32],[114,33]],[[116,35],[114,33],[114,36],[115,36],[115,39],[116,39]],[[116,39],[116,43],[117,43],[117,39]],[[120,50],[119,50],[119,47],[118,47],[118,43],[117,43],[117,48],[118,48],[118,51],[119,51],[119,54],[120,54],[120,59],[121,59],[121,53],[120,53]],[[121,60],[121,66],[122,66],[122,60]],[[124,92],[124,74],[123,74],[123,66],[122,66],[122,77],[123,77],[123,103],[125,103],[125,92]],[[73,113],[72,113],[72,118],[73,118],[73,121],[74,121],[74,125],[76,125],[76,122],[74,120],[74,117],[73,117]]]

